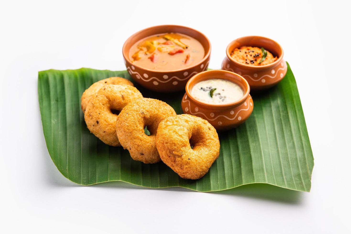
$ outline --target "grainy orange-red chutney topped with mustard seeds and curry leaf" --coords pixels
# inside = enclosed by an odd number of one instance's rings
[[[273,56],[271,52],[266,51],[263,47],[251,47],[251,46],[241,46],[240,48],[235,48],[230,56],[246,65],[250,66],[263,66],[276,61],[277,56]]]

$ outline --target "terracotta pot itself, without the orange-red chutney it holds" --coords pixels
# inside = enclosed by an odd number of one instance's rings
[[[250,66],[232,59],[230,53],[240,46],[264,47],[278,59],[263,66]],[[227,56],[222,62],[222,69],[242,75],[252,90],[270,88],[281,81],[287,71],[286,62],[283,60],[283,48],[275,41],[263,36],[244,36],[238,38],[227,46]]]

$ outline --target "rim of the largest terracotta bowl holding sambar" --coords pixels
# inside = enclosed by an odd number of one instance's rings
[[[157,70],[152,70],[152,69],[148,69],[148,68],[144,68],[144,67],[140,67],[140,66],[137,66],[135,64],[133,64],[130,59],[128,58],[129,56],[127,56],[124,51],[125,51],[125,46],[127,44],[128,41],[130,41],[134,36],[144,32],[144,31],[147,31],[147,30],[150,30],[151,28],[157,28],[157,27],[170,27],[170,26],[173,26],[173,27],[181,27],[181,28],[187,28],[187,29],[190,29],[192,31],[195,31],[197,33],[199,33],[201,36],[203,36],[205,38],[205,40],[208,42],[208,51],[207,53],[205,54],[204,58],[196,63],[195,65],[191,66],[191,67],[186,67],[186,68],[183,68],[183,69],[176,69],[176,70],[169,70],[169,71],[157,71]],[[151,35],[149,35],[151,36]],[[201,44],[202,45],[202,44]],[[203,46],[203,45],[202,45]],[[129,52],[129,51],[128,51]],[[205,34],[201,33],[200,31],[197,31],[196,29],[193,29],[193,28],[190,28],[190,27],[186,27],[186,26],[182,26],[182,25],[156,25],[156,26],[151,26],[151,27],[148,27],[148,28],[144,28],[144,29],[141,29],[140,31],[134,33],[133,35],[131,35],[123,44],[123,47],[122,47],[122,54],[123,54],[123,57],[126,61],[128,61],[131,65],[133,65],[134,67],[137,67],[139,69],[142,69],[142,70],[145,70],[145,71],[149,71],[149,72],[156,72],[156,73],[170,73],[170,72],[181,72],[181,71],[185,71],[187,69],[192,69],[196,66],[199,66],[201,63],[203,63],[204,61],[206,61],[208,59],[208,57],[210,56],[211,54],[211,42],[210,40],[208,40],[207,36],[205,36]]]

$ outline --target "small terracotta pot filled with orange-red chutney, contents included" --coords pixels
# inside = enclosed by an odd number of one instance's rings
[[[244,36],[227,46],[222,69],[243,76],[251,90],[268,89],[280,82],[287,71],[283,48],[263,36]]]

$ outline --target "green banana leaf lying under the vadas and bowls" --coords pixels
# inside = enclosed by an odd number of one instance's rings
[[[201,192],[269,183],[310,191],[313,155],[289,65],[277,86],[252,94],[254,109],[244,124],[219,133],[219,157],[198,180],[180,178],[163,162],[134,161],[127,150],[105,145],[89,132],[80,97],[92,83],[111,76],[131,79],[127,71],[90,68],[39,72],[39,106],[46,146],[56,167],[69,180],[80,185],[124,181],[144,187],[179,186]],[[159,94],[135,86],[144,97],[163,100],[182,114],[180,101],[184,92]]]

